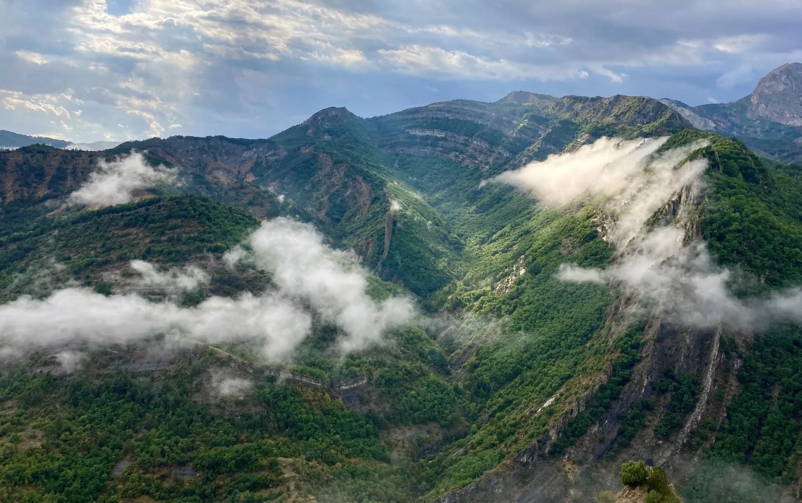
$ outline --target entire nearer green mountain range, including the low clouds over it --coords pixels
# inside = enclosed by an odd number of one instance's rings
[[[794,501],[802,176],[676,106],[0,152],[0,501]]]

